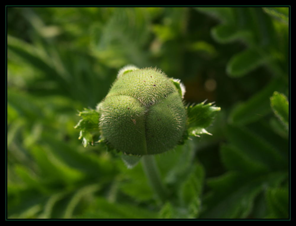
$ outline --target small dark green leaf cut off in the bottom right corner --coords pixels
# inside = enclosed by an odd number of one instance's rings
[[[266,201],[270,214],[268,218],[289,218],[289,191],[284,188],[269,188]]]

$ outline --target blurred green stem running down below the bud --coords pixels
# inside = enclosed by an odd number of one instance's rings
[[[157,168],[154,156],[144,155],[142,157],[142,163],[152,189],[155,191],[157,197],[160,200],[165,201],[168,197],[168,190],[161,180],[160,172]]]

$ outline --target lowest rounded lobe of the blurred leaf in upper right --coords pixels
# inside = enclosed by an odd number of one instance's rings
[[[268,58],[258,50],[247,49],[230,59],[226,71],[230,77],[242,77],[267,61]]]

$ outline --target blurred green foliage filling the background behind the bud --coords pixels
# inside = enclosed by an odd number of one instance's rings
[[[288,22],[288,8],[7,8],[8,218],[288,218]],[[156,156],[166,202],[141,164],[74,129],[126,64],[222,109],[213,136]]]

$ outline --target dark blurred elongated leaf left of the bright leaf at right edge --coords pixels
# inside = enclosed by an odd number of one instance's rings
[[[249,100],[235,106],[229,115],[229,121],[245,125],[260,119],[271,112],[269,98],[274,90],[285,90],[285,86],[285,82],[281,79],[273,79]]]

